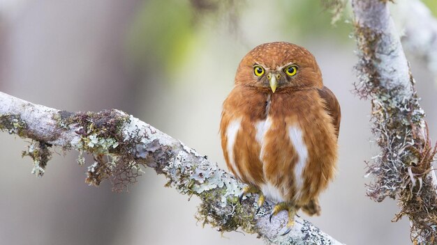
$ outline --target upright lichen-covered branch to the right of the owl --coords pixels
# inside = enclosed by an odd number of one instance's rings
[[[356,92],[370,97],[372,128],[381,148],[369,164],[374,180],[367,194],[377,201],[397,198],[411,223],[412,241],[433,244],[437,235],[436,178],[424,111],[415,81],[394,28],[389,1],[353,0],[355,38],[360,61]]]

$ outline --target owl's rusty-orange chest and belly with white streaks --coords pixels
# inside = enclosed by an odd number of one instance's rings
[[[248,111],[239,137],[253,142],[256,147],[239,148],[241,155],[258,160],[260,177],[253,177],[269,199],[281,201],[299,198],[304,187],[304,170],[311,161],[311,152],[320,150],[320,143],[327,136],[323,104],[311,94],[302,93],[267,98],[265,106],[253,107]],[[258,115],[258,116],[249,116]],[[259,116],[263,115],[263,116]],[[244,164],[239,162],[239,164]],[[251,161],[248,164],[255,164]],[[290,191],[290,183],[294,187]]]

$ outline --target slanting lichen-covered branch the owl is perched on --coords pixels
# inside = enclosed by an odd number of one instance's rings
[[[0,129],[33,141],[23,155],[33,159],[32,172],[39,177],[50,160],[50,148],[77,150],[80,165],[85,164],[84,152],[94,157],[87,167],[87,183],[109,179],[120,191],[137,181],[143,167],[154,168],[167,177],[168,187],[198,196],[202,203],[196,218],[222,232],[242,228],[271,244],[341,244],[297,216],[292,231],[281,236],[286,212],[270,223],[267,214],[272,206],[266,203],[255,215],[258,196],[247,196],[239,204],[242,182],[206,156],[122,111],[69,113],[0,92]]]

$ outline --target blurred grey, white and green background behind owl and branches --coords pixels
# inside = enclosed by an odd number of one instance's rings
[[[437,12],[436,1],[425,1]],[[352,93],[350,10],[331,25],[316,0],[0,0],[0,90],[68,111],[121,109],[225,168],[221,103],[237,65],[263,42],[288,41],[317,58],[342,108],[336,180],[322,215],[304,218],[346,244],[410,244],[394,200],[365,196],[370,102]],[[437,139],[435,77],[408,56],[431,138]],[[196,223],[199,200],[163,187],[150,169],[127,193],[84,184],[77,152],[56,150],[43,178],[20,157],[28,142],[0,134],[0,244],[263,244],[255,235]]]

